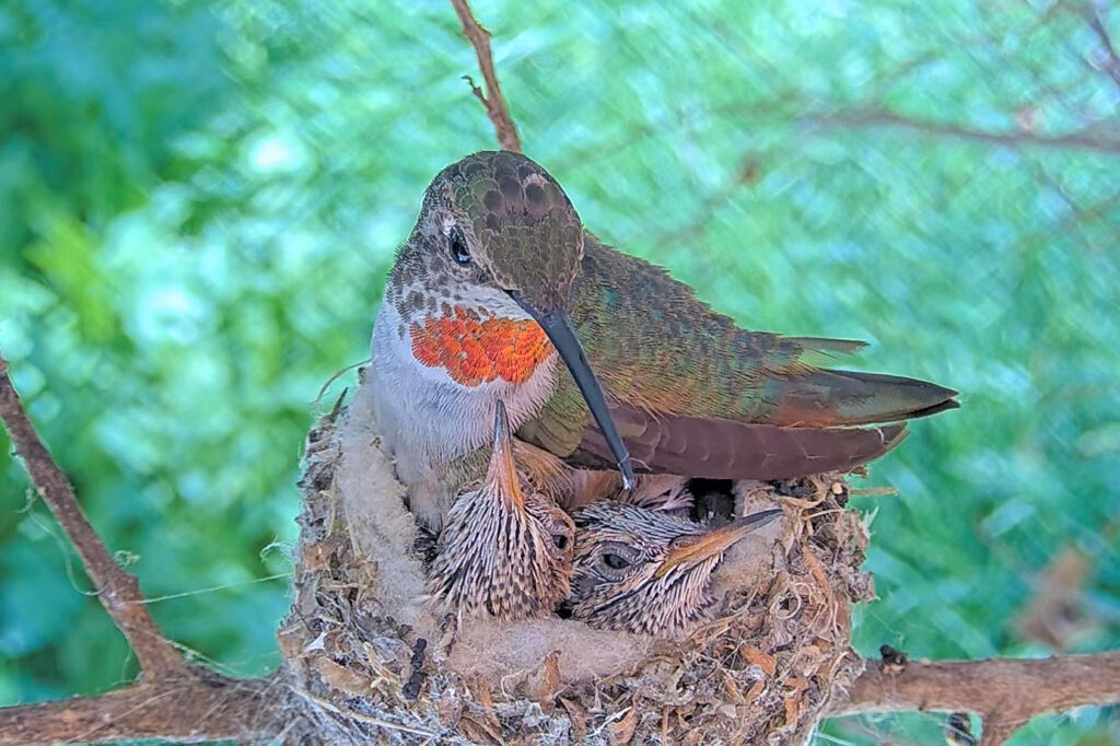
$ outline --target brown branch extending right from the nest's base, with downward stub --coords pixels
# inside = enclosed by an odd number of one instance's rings
[[[1047,659],[867,661],[847,700],[828,715],[859,712],[974,712],[983,718],[981,746],[1001,744],[1036,715],[1120,702],[1120,652]]]

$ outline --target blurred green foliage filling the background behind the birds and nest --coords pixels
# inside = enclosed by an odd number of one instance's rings
[[[861,652],[1048,652],[1016,621],[1070,547],[1091,570],[1067,649],[1120,646],[1120,60],[1102,39],[1120,10],[475,11],[525,151],[601,237],[745,326],[869,339],[856,365],[962,391],[874,468],[899,496],[857,502],[883,597],[858,612]],[[278,661],[320,384],[367,354],[428,180],[494,147],[475,73],[437,0],[0,3],[0,348],[157,621],[224,670]],[[26,484],[0,463],[0,703],[136,671]],[[820,743],[941,727],[861,718]],[[1016,743],[1118,739],[1114,711],[1085,710]]]

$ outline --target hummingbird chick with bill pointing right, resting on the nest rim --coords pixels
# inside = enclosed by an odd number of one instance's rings
[[[763,511],[718,529],[615,501],[576,513],[572,618],[592,627],[672,636],[703,618],[724,552],[782,515]]]

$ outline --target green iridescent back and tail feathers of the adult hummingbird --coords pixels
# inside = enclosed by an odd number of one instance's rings
[[[585,233],[569,311],[612,407],[654,419],[837,428],[940,411],[955,392],[889,375],[818,367],[864,343],[747,332],[664,270]],[[590,421],[566,371],[522,437],[570,454]],[[620,423],[623,436],[626,427]]]

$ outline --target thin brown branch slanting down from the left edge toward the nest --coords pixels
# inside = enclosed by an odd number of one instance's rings
[[[19,394],[8,375],[8,362],[0,354],[0,420],[3,420],[16,451],[24,459],[31,484],[55,514],[58,524],[77,549],[86,574],[97,587],[102,606],[128,638],[146,674],[160,674],[183,666],[178,651],[159,632],[144,606],[140,584],[110,556],[105,544],[82,512],[74,487],[66,479],[39,433],[36,432]]]

